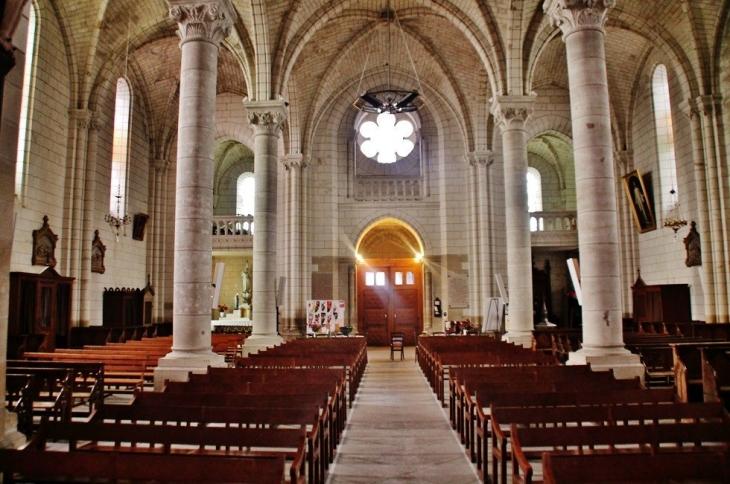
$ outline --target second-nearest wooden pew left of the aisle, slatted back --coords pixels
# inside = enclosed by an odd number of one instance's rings
[[[46,450],[50,442],[68,442],[68,451],[209,454],[221,457],[283,455],[291,461],[291,484],[303,483],[305,435],[301,429],[167,426],[98,422],[43,422],[25,448]],[[58,444],[56,443],[57,447]]]

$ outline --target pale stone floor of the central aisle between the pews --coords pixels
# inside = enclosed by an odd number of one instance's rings
[[[476,468],[413,361],[368,348],[368,368],[334,465],[331,484],[478,483]]]

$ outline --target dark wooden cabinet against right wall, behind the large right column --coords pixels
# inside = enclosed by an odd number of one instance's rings
[[[632,287],[634,320],[637,323],[692,321],[689,286],[687,284],[646,285],[639,277]]]

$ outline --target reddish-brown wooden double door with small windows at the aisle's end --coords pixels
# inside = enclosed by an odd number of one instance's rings
[[[368,344],[390,344],[390,333],[402,331],[406,344],[423,331],[421,265],[408,261],[369,261],[358,268],[359,329]]]

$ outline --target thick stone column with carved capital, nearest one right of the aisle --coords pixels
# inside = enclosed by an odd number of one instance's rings
[[[546,0],[563,32],[570,84],[583,291],[583,348],[569,363],[613,368],[643,377],[637,355],[623,344],[621,269],[611,118],[603,29],[615,0]]]

